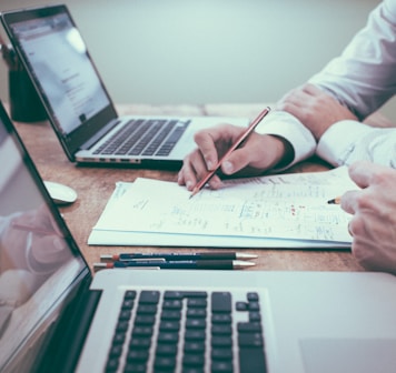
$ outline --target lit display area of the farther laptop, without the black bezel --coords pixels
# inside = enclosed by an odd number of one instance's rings
[[[11,29],[63,134],[109,104],[86,44],[67,13],[16,22]]]

